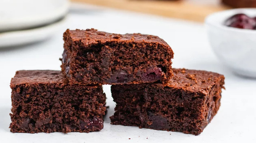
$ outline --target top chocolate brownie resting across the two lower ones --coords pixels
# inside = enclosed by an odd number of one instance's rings
[[[173,51],[157,36],[67,29],[63,39],[61,68],[70,84],[166,83],[173,75]]]

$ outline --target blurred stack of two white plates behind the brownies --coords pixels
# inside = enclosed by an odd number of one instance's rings
[[[0,48],[45,40],[68,9],[68,0],[0,0]]]

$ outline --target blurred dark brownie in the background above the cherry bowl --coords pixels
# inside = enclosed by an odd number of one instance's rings
[[[234,8],[256,8],[256,0],[222,0],[222,3]]]

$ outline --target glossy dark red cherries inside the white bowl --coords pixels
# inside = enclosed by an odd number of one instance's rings
[[[241,28],[241,29],[254,29],[256,20],[245,14],[236,14],[225,21],[226,26]]]

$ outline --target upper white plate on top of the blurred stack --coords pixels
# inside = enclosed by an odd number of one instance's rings
[[[0,31],[50,24],[63,17],[68,0],[0,0]]]

